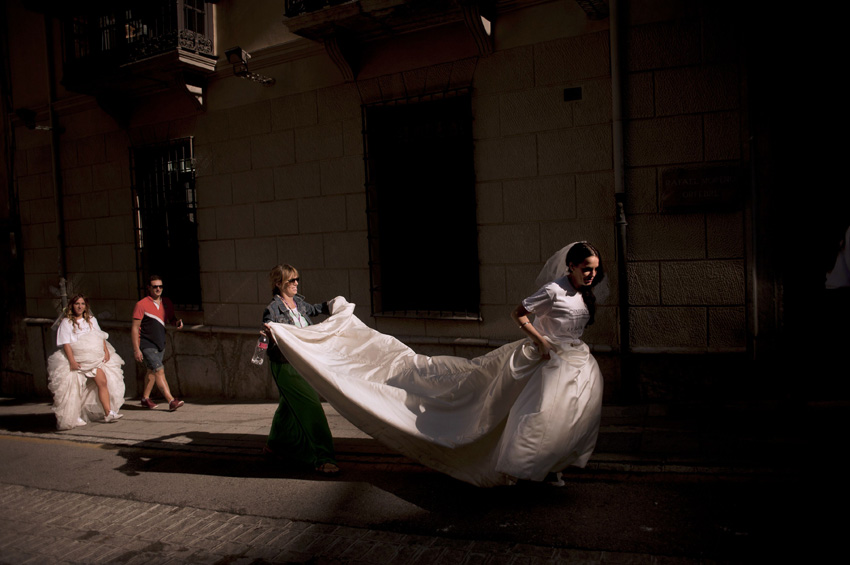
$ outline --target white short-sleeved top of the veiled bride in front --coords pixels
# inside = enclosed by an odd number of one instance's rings
[[[535,315],[537,331],[555,341],[581,339],[590,320],[584,298],[566,276],[544,285],[523,300],[522,305]]]

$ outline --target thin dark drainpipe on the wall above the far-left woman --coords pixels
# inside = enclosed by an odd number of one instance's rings
[[[53,58],[53,20],[44,15],[44,44],[47,49],[47,113],[50,117],[50,157],[53,163],[53,197],[56,208],[56,247],[59,274],[59,298],[62,308],[68,305],[68,289],[65,280],[65,209],[62,204],[62,167],[59,160],[59,124],[53,104],[56,101],[56,72]]]

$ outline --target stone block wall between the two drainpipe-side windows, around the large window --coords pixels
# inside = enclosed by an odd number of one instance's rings
[[[557,40],[200,116],[205,322],[256,325],[269,268],[288,262],[308,299],[342,294],[380,331],[442,339],[444,353],[459,351],[446,345],[452,338],[477,338],[486,350],[521,337],[510,311],[536,290],[551,253],[589,239],[614,260],[607,44],[604,33]],[[591,60],[564,71],[564,61],[587,53]],[[372,319],[361,105],[452,85],[473,93],[479,255],[471,260],[480,263],[483,321]],[[564,88],[575,86],[582,100],[564,102]],[[613,300],[601,310],[591,335],[610,347]]]

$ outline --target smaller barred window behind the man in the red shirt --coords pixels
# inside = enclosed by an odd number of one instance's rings
[[[201,309],[192,138],[132,149],[139,296],[163,278],[178,310]]]

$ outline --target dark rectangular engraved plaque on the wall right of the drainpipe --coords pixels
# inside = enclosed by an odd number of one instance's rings
[[[743,198],[741,169],[706,166],[661,174],[662,212],[714,212],[737,208]]]

